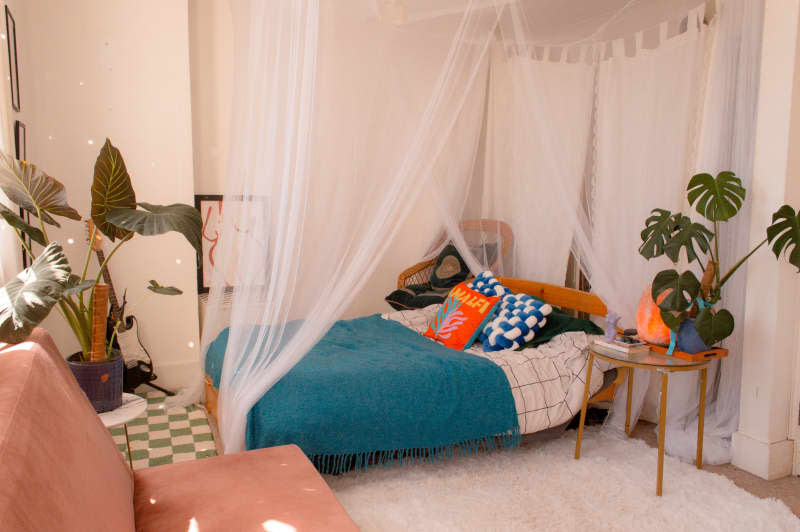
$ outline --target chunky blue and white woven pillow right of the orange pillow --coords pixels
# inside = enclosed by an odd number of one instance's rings
[[[506,294],[497,315],[480,334],[484,351],[517,349],[547,324],[553,307],[528,294]]]

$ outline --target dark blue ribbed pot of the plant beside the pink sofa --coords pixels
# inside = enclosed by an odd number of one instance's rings
[[[67,359],[67,365],[75,380],[98,414],[122,405],[122,376],[125,373],[125,364],[118,350],[113,349],[111,357],[110,360],[102,362],[84,362],[81,360],[81,353],[78,352]]]

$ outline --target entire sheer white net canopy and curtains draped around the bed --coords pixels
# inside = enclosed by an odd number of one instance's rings
[[[732,169],[749,183],[760,2],[231,8],[232,151],[203,339],[208,346],[230,327],[220,383],[226,452],[244,448],[250,408],[397,242],[407,262],[395,272],[452,241],[473,273],[492,266],[564,284],[572,256],[632,326],[644,287],[670,267],[637,253],[649,211],[688,213],[685,187],[701,169]],[[748,216],[725,228],[723,262],[743,254],[746,231],[737,228]],[[489,222],[460,223],[478,219]],[[513,230],[507,253],[481,245],[498,244],[501,223]],[[725,295],[736,317],[744,278]],[[738,415],[741,337],[728,347],[709,379],[712,462],[728,460]],[[646,377],[635,379],[637,413]],[[673,377],[671,386],[668,452],[691,458],[698,382]]]

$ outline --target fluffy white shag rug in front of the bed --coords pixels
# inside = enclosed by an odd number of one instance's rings
[[[364,531],[800,530],[780,501],[667,456],[656,497],[656,449],[587,428],[522,449],[452,462],[326,477]]]

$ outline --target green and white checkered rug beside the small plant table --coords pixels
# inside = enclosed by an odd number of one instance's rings
[[[202,408],[192,405],[165,410],[163,393],[148,392],[144,397],[147,410],[128,423],[134,469],[217,455],[214,436]],[[109,432],[127,461],[124,427],[115,427]]]

